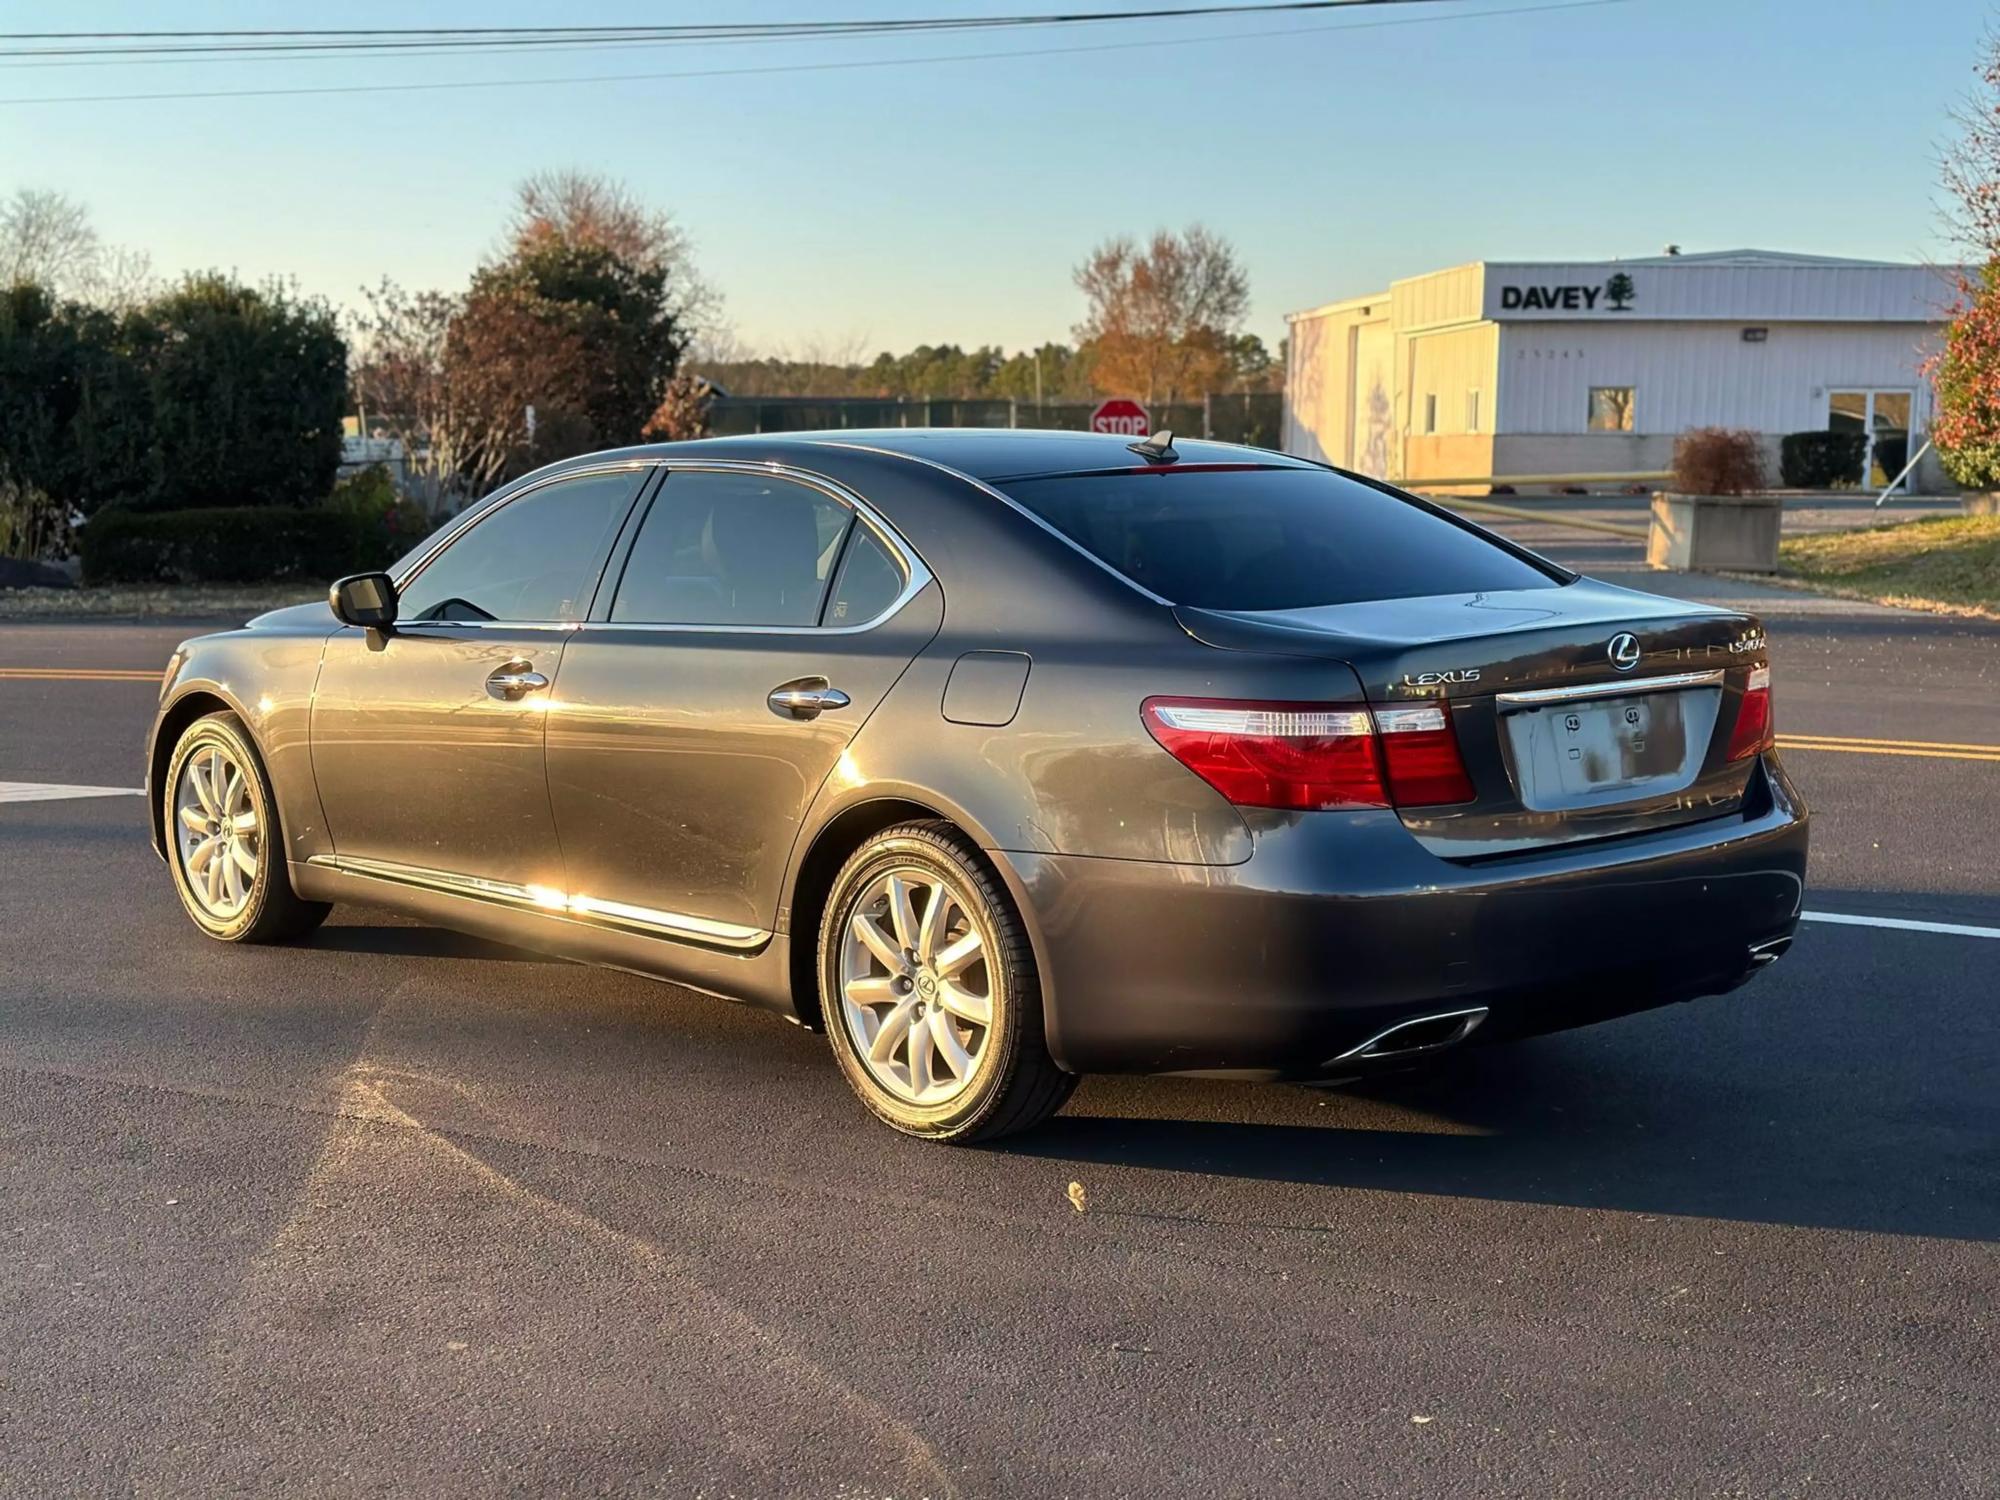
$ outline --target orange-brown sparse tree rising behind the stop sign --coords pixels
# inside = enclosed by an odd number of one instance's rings
[[[1220,386],[1250,308],[1250,278],[1220,234],[1158,230],[1142,250],[1106,240],[1076,268],[1090,310],[1076,336],[1094,346],[1110,394],[1174,400]]]

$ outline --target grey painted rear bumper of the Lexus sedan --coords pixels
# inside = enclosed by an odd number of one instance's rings
[[[1064,1068],[1334,1078],[1422,1016],[1498,1040],[1736,988],[1798,924],[1806,808],[1770,756],[1740,814],[1476,864],[1392,812],[1278,816],[1234,866],[996,858]]]

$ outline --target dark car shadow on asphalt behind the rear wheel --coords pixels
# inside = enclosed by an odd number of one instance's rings
[[[1856,1088],[1874,1090],[1864,1106]],[[1914,1072],[1794,1074],[1772,1056],[1718,1076],[1552,1036],[1342,1090],[1092,1080],[1062,1116],[1000,1148],[1250,1182],[2000,1240],[1992,1140],[1974,1138],[1976,1120],[1938,1140],[1950,1108]]]

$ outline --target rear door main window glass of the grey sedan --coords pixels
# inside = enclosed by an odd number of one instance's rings
[[[814,626],[854,516],[762,474],[668,474],[632,542],[612,620]]]

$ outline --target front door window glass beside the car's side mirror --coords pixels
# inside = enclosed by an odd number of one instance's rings
[[[398,590],[404,620],[582,620],[640,474],[584,474],[474,522]]]

